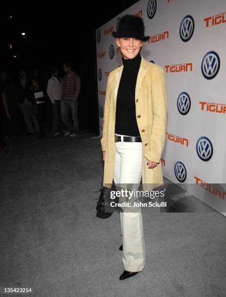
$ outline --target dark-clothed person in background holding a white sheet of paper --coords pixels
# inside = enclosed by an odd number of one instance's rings
[[[43,88],[39,86],[38,79],[32,79],[31,81],[30,91],[32,92],[31,103],[37,104],[38,113],[36,114],[36,118],[39,123],[40,133],[39,138],[43,138],[45,136],[45,101],[46,95]]]

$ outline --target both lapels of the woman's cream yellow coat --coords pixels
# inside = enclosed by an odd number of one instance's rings
[[[136,90],[135,90],[135,100],[136,97],[139,93],[143,78],[146,74],[146,64],[145,64],[146,60],[144,59],[144,57],[141,55],[141,62],[140,62],[140,68],[137,74],[137,79],[136,79]],[[114,107],[116,109],[116,101],[117,101],[117,94],[118,94],[118,89],[119,89],[119,84],[120,84],[120,80],[121,80],[121,73],[123,70],[123,65],[119,67],[119,70],[115,73],[115,100],[114,100]]]

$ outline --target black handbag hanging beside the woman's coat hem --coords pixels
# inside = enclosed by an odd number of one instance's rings
[[[103,185],[103,180],[101,182],[101,187],[99,189],[100,192],[100,197],[97,201],[97,205],[96,205],[96,216],[99,218],[108,218],[110,217],[116,210],[118,207],[113,207],[110,205],[110,202],[112,202],[112,199],[110,198],[110,192],[111,192],[112,188],[106,188]],[[113,200],[114,201],[114,200]]]

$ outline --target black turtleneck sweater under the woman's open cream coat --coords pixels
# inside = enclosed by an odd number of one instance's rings
[[[116,101],[115,133],[140,136],[136,122],[135,89],[140,68],[140,53],[133,59],[122,57],[123,70]]]

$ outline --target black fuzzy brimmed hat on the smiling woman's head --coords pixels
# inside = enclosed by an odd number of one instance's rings
[[[144,36],[144,22],[139,16],[122,16],[117,32],[113,31],[114,37],[134,37],[142,41],[149,40],[149,36]]]

